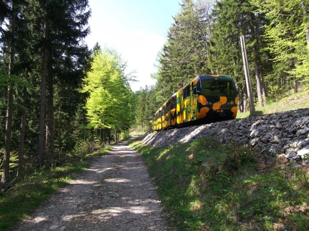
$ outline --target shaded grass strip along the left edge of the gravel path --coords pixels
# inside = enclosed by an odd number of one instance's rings
[[[75,173],[89,167],[93,157],[104,155],[108,150],[110,147],[88,154],[83,160],[66,166],[23,172],[15,180],[18,183],[0,195],[0,230],[12,229],[19,219],[27,217],[46,197],[66,186]]]

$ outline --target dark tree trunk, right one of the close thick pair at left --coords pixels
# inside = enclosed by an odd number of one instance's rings
[[[50,56],[49,56],[50,57]],[[54,107],[53,107],[53,76],[52,76],[52,65],[49,60],[48,70],[46,75],[46,143],[45,151],[46,154],[53,158],[54,157]]]

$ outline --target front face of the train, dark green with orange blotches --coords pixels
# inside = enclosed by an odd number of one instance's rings
[[[236,118],[238,97],[232,77],[228,75],[198,75],[197,77],[199,77],[197,119]]]

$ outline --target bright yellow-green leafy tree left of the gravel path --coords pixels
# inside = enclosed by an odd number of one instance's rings
[[[88,125],[91,128],[127,129],[133,121],[133,92],[129,88],[125,63],[116,51],[97,51],[87,73],[84,92]]]

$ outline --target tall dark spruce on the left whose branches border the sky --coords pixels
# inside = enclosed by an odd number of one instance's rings
[[[38,162],[41,163],[46,159],[46,155],[53,158],[55,154],[54,85],[78,87],[83,79],[84,69],[87,68],[89,52],[83,39],[89,33],[86,26],[90,11],[87,10],[87,0],[46,0],[29,3],[32,8],[26,9],[24,15],[25,18],[31,18],[32,22],[37,22],[29,27],[29,32],[33,34],[31,38],[34,53],[42,54],[38,154]]]

